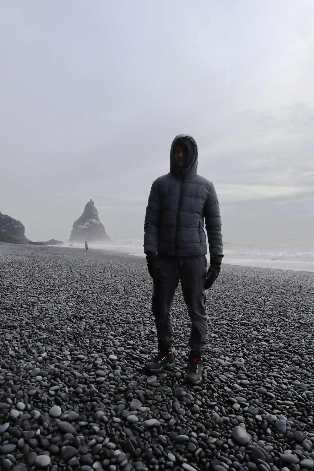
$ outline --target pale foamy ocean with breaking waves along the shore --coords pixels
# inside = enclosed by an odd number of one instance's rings
[[[84,244],[73,244],[73,246],[84,249]],[[89,249],[112,250],[145,257],[143,239],[91,242]],[[223,262],[251,267],[314,271],[314,241],[301,238],[227,239],[224,240]]]

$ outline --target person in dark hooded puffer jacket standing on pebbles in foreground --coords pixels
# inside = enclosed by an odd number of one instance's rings
[[[150,373],[174,363],[170,309],[180,280],[192,322],[186,381],[201,382],[206,349],[206,291],[219,275],[221,219],[214,185],[197,175],[198,149],[192,136],[179,135],[170,149],[170,172],[153,182],[145,216],[144,251],[153,278],[153,314],[159,353],[145,365]],[[210,266],[207,271],[207,231]]]

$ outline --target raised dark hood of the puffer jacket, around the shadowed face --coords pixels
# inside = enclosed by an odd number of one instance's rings
[[[185,168],[181,169],[177,167],[174,159],[174,149],[178,141],[184,144],[188,150],[187,163]],[[197,173],[197,156],[198,148],[195,139],[187,134],[179,134],[173,139],[170,148],[170,174],[177,178],[192,179]]]

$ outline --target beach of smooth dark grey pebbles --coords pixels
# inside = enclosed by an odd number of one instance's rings
[[[203,382],[156,350],[145,258],[0,243],[0,470],[314,470],[314,273],[223,264]]]

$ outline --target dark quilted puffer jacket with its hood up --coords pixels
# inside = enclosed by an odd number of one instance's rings
[[[185,168],[174,159],[181,141],[188,149]],[[219,203],[214,185],[197,175],[198,149],[192,136],[178,135],[170,149],[170,173],[153,182],[144,226],[144,252],[169,257],[193,257],[207,253],[204,219],[210,255],[222,254]]]

